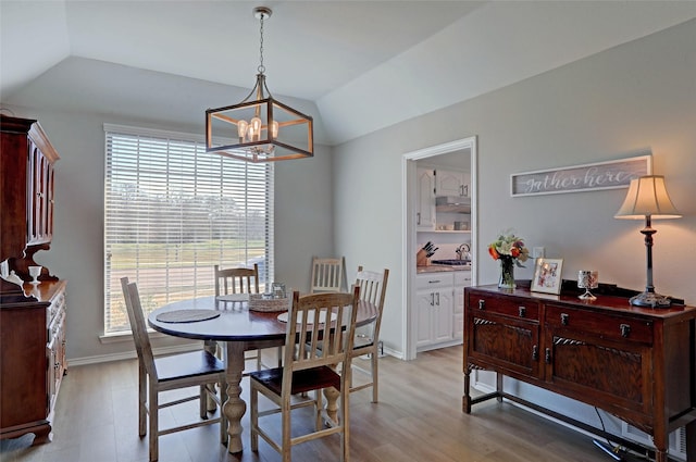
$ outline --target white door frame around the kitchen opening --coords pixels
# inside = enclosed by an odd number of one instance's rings
[[[478,280],[477,270],[477,241],[478,241],[478,183],[477,183],[477,139],[476,136],[445,142],[417,151],[407,152],[401,158],[401,242],[402,255],[401,282],[403,303],[403,330],[401,333],[401,345],[403,345],[403,359],[413,360],[417,355],[415,348],[415,161],[433,158],[435,155],[447,154],[449,152],[468,149],[471,152],[471,248],[474,250],[471,266],[471,284],[476,285]]]

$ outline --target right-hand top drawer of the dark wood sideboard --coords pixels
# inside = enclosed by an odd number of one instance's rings
[[[652,323],[636,317],[548,304],[546,324],[585,332],[601,338],[652,344]]]

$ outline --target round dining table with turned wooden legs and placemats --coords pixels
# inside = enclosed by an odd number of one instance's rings
[[[204,313],[200,310],[211,310],[213,313]],[[179,313],[182,316],[177,316]],[[190,321],[187,321],[187,314],[194,315]],[[223,405],[222,413],[227,421],[226,442],[231,453],[241,452],[244,449],[241,417],[247,410],[247,404],[240,395],[245,351],[285,345],[287,323],[278,320],[279,314],[277,311],[249,310],[248,301],[239,297],[225,298],[222,296],[216,298],[212,296],[169,303],[152,311],[148,316],[150,327],[163,334],[196,340],[225,342],[227,401]],[[360,301],[356,325],[369,324],[376,316],[376,305]],[[332,411],[335,414],[337,409],[337,392],[327,394],[330,416],[332,416]],[[335,419],[335,415],[333,417]]]

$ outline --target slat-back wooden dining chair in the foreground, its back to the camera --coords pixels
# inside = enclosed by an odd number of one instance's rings
[[[360,289],[352,294],[293,294],[293,304],[287,314],[284,366],[249,374],[251,405],[251,450],[259,450],[259,436],[289,462],[291,448],[304,441],[340,434],[340,461],[348,461],[350,350],[356,330],[356,315]],[[327,327],[331,326],[331,334]],[[300,340],[300,341],[298,341]],[[321,346],[321,349],[320,349]],[[297,347],[297,354],[295,348]],[[347,373],[338,374],[340,367]],[[337,421],[323,409],[322,390],[334,387],[338,396]],[[298,395],[314,391],[314,398],[301,399]],[[260,412],[259,394],[275,407]],[[296,396],[291,401],[290,398]],[[291,411],[312,405],[314,430],[293,437]],[[259,419],[282,413],[279,442],[259,425]],[[323,424],[326,423],[326,426]]]

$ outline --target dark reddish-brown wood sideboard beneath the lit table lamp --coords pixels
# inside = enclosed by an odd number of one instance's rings
[[[654,438],[668,461],[669,433],[686,427],[687,460],[696,461],[696,308],[632,307],[626,296],[560,296],[497,286],[464,289],[462,410],[510,399],[597,435],[561,413],[513,396],[502,376],[602,409]],[[496,391],[472,398],[470,374],[497,373]],[[606,436],[606,435],[605,435]]]

